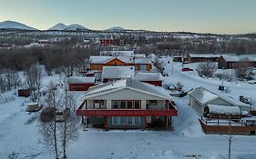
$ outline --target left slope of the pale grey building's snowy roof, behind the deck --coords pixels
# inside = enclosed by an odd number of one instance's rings
[[[200,102],[200,104],[207,104],[210,101],[213,101],[219,98],[217,94],[213,94],[212,92],[203,88],[202,86],[193,89],[188,94],[193,98],[195,98],[198,102]]]

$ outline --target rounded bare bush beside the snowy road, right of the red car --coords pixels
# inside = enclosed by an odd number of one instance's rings
[[[197,72],[200,76],[212,77],[215,73],[217,66],[215,63],[206,62],[200,63],[197,67]]]

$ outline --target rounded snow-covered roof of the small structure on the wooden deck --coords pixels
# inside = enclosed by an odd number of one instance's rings
[[[208,104],[210,114],[232,114],[240,115],[241,110],[238,106],[227,106],[219,104]]]

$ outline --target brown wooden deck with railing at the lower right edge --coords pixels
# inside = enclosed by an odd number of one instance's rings
[[[256,121],[208,120],[204,117],[201,117],[199,121],[205,134],[256,134]]]

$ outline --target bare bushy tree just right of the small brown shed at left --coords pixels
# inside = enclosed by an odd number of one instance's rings
[[[42,69],[40,65],[31,65],[26,71],[26,84],[31,89],[30,98],[33,102],[36,102],[40,96],[40,89],[42,87]]]

